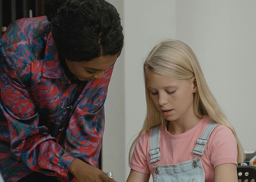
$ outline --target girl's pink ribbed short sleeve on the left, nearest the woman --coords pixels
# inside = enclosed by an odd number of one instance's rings
[[[148,146],[149,146],[149,134],[142,134],[134,147],[131,164],[131,169],[138,171],[144,174],[150,174],[150,170],[148,168],[147,154],[148,154]]]

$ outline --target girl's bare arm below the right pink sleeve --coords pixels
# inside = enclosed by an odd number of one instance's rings
[[[237,166],[233,163],[222,164],[215,167],[215,182],[235,182],[237,178]]]

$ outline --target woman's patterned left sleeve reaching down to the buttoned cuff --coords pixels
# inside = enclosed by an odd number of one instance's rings
[[[20,82],[1,46],[0,63],[0,109],[8,122],[12,153],[33,171],[67,178],[76,157],[57,143],[46,126],[39,126],[39,114],[29,87]]]

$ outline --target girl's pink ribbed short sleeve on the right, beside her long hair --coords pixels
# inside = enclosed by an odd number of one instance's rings
[[[230,128],[219,125],[212,131],[210,138],[211,163],[214,168],[225,163],[237,165],[237,141]]]

